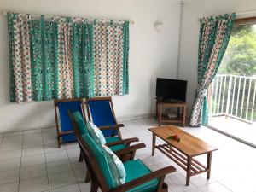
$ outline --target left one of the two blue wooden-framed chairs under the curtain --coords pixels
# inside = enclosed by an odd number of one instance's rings
[[[79,111],[85,119],[84,113],[84,101],[82,98],[74,99],[59,99],[54,100],[55,106],[55,125],[57,131],[58,147],[61,147],[61,143],[68,143],[76,141],[76,137],[73,131],[73,125],[68,117],[67,110],[72,112]],[[59,113],[58,113],[59,112]],[[59,117],[61,125],[59,125]]]

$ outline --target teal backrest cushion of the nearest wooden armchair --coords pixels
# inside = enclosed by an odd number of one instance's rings
[[[82,136],[84,142],[87,143],[90,147],[91,152],[96,157],[97,165],[100,167],[102,171],[103,177],[106,179],[106,183],[109,188],[114,188],[117,186],[115,179],[113,178],[113,174],[109,167],[109,162],[107,159],[107,153],[101,148],[102,145],[98,145],[89,134],[84,134]]]

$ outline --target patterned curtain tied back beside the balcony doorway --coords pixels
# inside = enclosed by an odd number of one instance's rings
[[[190,119],[192,126],[207,124],[207,89],[218,72],[235,18],[233,13],[200,20],[198,84]]]

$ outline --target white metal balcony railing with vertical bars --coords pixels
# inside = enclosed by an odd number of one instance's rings
[[[256,121],[256,77],[217,75],[208,89],[209,116]]]

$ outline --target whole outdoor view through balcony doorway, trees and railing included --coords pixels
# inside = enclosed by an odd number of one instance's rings
[[[225,127],[228,119],[236,119],[242,126],[255,127],[256,135],[256,24],[234,26],[208,95],[209,125],[224,118],[218,126]]]

